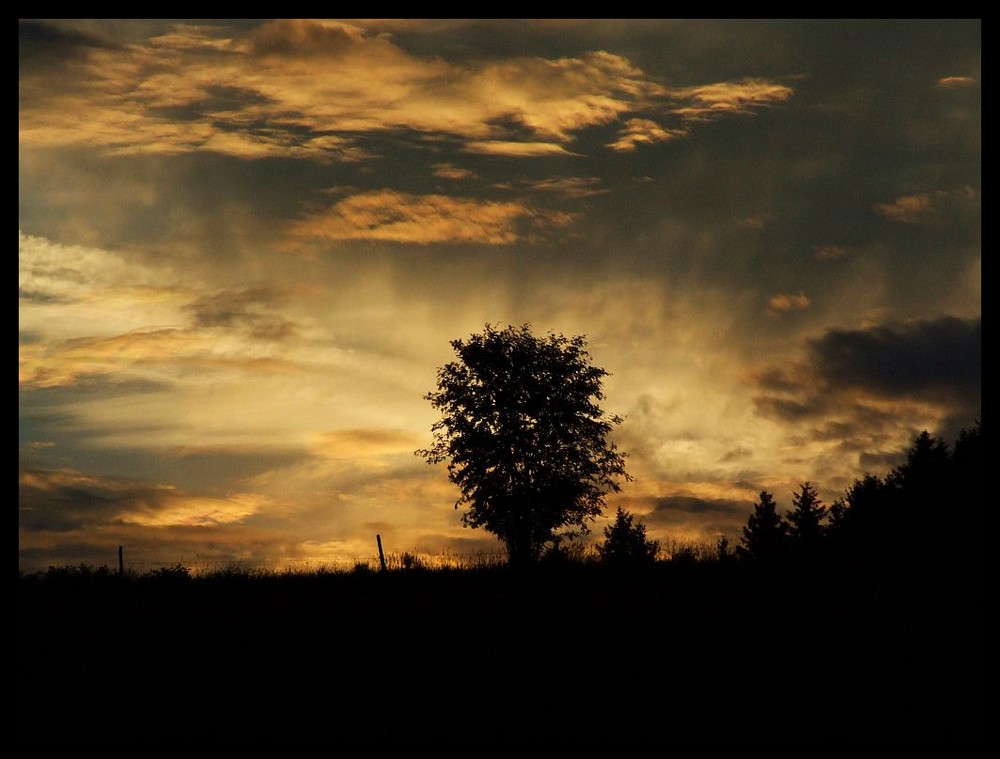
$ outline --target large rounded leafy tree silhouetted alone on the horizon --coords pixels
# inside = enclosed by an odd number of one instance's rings
[[[486,325],[451,345],[458,360],[425,396],[442,414],[434,445],[416,453],[448,462],[465,526],[500,538],[512,564],[532,563],[589,532],[605,494],[630,479],[608,440],[622,419],[598,405],[608,373],[591,365],[583,337],[536,337],[527,324]]]

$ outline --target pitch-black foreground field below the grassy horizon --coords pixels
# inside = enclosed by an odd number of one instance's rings
[[[19,592],[22,743],[980,737],[977,597],[932,572],[68,575]]]

